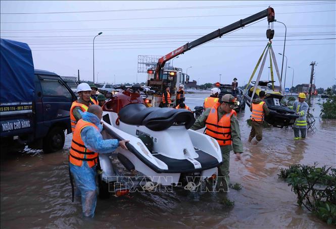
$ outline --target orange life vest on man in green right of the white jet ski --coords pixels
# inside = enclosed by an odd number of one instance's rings
[[[218,122],[218,106],[220,104],[216,103],[212,106],[208,119],[205,121],[206,131],[205,134],[213,137],[217,140],[220,146],[231,145],[231,116],[234,115],[233,109],[230,113],[226,113]]]

